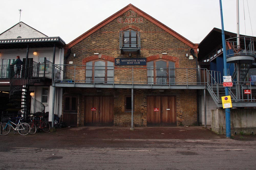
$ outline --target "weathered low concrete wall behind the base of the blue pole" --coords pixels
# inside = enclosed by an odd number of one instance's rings
[[[226,134],[225,109],[211,110],[211,130]],[[231,134],[256,133],[256,109],[230,109]]]

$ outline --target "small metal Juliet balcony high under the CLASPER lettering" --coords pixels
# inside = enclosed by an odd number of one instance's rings
[[[140,53],[141,38],[138,31],[120,31],[120,50],[121,54],[124,51],[136,51]]]

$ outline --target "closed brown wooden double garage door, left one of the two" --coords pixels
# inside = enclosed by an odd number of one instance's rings
[[[114,125],[113,96],[86,96],[84,110],[85,126]]]

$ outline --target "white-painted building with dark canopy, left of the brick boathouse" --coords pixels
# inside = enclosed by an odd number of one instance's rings
[[[28,85],[29,89],[26,90],[34,91],[34,96],[32,96],[32,98],[44,104],[45,112],[49,112],[49,121],[51,121],[52,107],[55,107],[54,113],[60,116],[62,109],[62,88],[56,88],[55,104],[53,106],[53,88],[51,73],[52,63],[63,64],[63,47],[65,45],[65,42],[60,37],[48,37],[47,35],[37,31],[36,29],[30,27],[29,25],[23,22],[17,23],[10,29],[1,33],[0,96],[7,100],[6,93],[4,94],[3,92],[10,93],[12,91],[10,89],[12,88],[10,82],[14,81],[15,78],[21,79],[21,77],[33,73],[34,82],[32,84],[30,82],[30,84]],[[22,70],[20,72],[20,75],[18,76],[14,76],[14,72],[17,69],[16,66],[14,66],[13,70],[10,69],[10,64],[16,60],[16,56],[20,56],[20,59],[23,61]],[[53,61],[54,58],[55,61]],[[46,62],[45,59],[47,60]],[[33,69],[30,69],[29,73],[25,73],[25,68]],[[37,77],[38,79],[36,79],[35,77]],[[35,79],[37,81],[35,81]],[[9,99],[8,101],[6,101],[6,103],[7,102],[11,103]],[[31,107],[32,105],[33,102],[31,103]],[[2,106],[1,108],[1,112],[6,111],[4,106]],[[22,108],[20,108],[20,110],[22,110]],[[33,111],[31,111],[31,113],[33,113]]]

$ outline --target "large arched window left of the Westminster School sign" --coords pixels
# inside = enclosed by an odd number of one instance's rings
[[[113,83],[114,63],[94,60],[86,63],[86,83]]]

